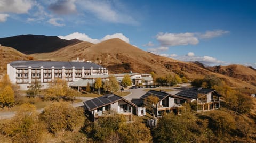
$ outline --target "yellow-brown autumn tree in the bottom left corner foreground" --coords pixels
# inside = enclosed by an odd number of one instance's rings
[[[22,104],[13,119],[5,124],[4,134],[11,137],[13,142],[39,142],[43,129],[36,107],[26,103]]]

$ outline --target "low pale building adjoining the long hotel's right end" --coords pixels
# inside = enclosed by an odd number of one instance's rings
[[[153,85],[153,78],[151,74],[141,74],[141,73],[122,73],[122,74],[103,74],[103,75],[86,75],[80,80],[70,83],[69,87],[77,89],[78,91],[85,91],[86,86],[89,83],[90,86],[94,85],[97,78],[101,78],[102,81],[109,80],[110,76],[117,79],[119,83],[122,82],[124,76],[128,74],[133,82],[133,85]]]

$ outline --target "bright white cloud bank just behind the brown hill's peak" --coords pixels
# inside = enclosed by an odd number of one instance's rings
[[[88,35],[86,35],[85,33],[79,33],[79,32],[71,33],[70,35],[66,35],[66,36],[58,36],[58,37],[61,38],[61,39],[67,39],[67,40],[79,39],[79,40],[83,40],[83,41],[89,41],[91,43],[99,43],[101,41],[105,41],[105,40],[108,40],[108,39],[119,38],[119,39],[129,43],[129,38],[124,36],[122,33],[115,33],[113,35],[106,35],[102,39],[92,39]]]

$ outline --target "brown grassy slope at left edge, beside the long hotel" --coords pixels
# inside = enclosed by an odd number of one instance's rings
[[[0,78],[7,73],[7,63],[15,60],[28,60],[28,56],[11,47],[0,46]]]

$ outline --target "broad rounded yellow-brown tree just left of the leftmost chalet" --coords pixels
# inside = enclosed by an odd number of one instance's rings
[[[78,131],[84,124],[85,116],[82,108],[59,102],[46,106],[40,119],[46,124],[47,130],[57,136],[61,130]]]

